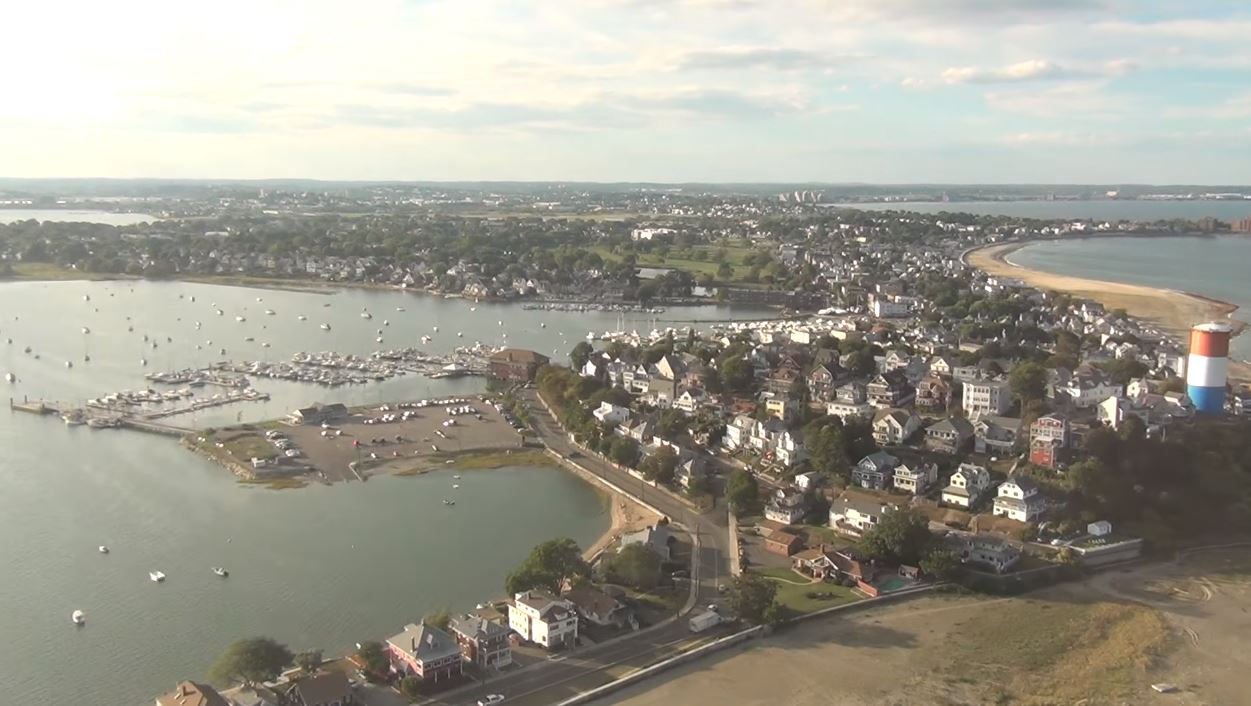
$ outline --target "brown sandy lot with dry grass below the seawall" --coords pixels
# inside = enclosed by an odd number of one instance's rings
[[[1248,611],[1251,550],[1205,553],[1021,598],[819,618],[603,703],[1251,703]]]

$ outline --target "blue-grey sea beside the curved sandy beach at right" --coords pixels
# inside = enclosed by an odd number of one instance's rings
[[[1058,240],[1027,245],[1008,259],[1042,272],[1193,292],[1237,304],[1235,318],[1251,320],[1251,238]],[[1251,337],[1235,338],[1231,356],[1251,359]]]

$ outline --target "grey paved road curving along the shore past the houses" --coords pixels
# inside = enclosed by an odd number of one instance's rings
[[[538,394],[533,389],[523,391],[522,394],[530,409],[535,432],[548,448],[565,457],[573,454],[574,461],[583,468],[636,494],[666,513],[671,521],[686,526],[692,535],[698,536],[699,551],[694,557],[696,566],[692,568],[692,578],[698,585],[696,610],[717,601],[719,597],[717,586],[729,581],[728,518],[724,508],[699,513],[663,491],[648,486],[641,487],[637,478],[595,457],[583,456],[538,401]],[[488,693],[503,693],[509,706],[549,706],[723,632],[723,628],[718,628],[692,635],[687,628],[687,621],[679,617],[663,627],[644,630],[638,635],[580,650],[569,656],[555,656],[525,670],[493,677],[483,686],[435,702],[449,706],[473,705]]]

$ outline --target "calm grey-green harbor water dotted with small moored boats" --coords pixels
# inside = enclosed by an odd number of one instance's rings
[[[0,285],[0,372],[19,378],[8,386],[10,397],[81,402],[143,389],[143,373],[153,369],[220,359],[223,347],[236,361],[285,359],[296,350],[368,354],[417,345],[429,334],[427,348],[437,352],[482,340],[563,361],[588,330],[664,325],[643,314],[472,305],[397,292],[8,283]],[[363,319],[363,310],[374,318]],[[308,320],[298,320],[300,314]],[[703,307],[662,317],[729,314]],[[320,330],[323,322],[333,330]],[[382,345],[374,342],[379,328]],[[265,342],[271,347],[263,348]],[[23,353],[28,345],[30,356]],[[334,391],[254,384],[273,399],[170,421],[204,427],[279,417],[314,401],[468,394],[482,387],[475,379],[418,376]],[[203,677],[225,645],[249,635],[343,653],[425,612],[495,597],[533,545],[560,535],[585,545],[609,521],[593,488],[558,469],[467,472],[457,506],[447,508],[448,473],[266,491],[238,484],[171,439],[9,412],[0,412],[0,693],[11,703],[71,703],[84,693],[101,705],[146,703],[179,678]],[[113,552],[101,556],[98,545]],[[213,576],[213,566],[228,567],[230,578]],[[150,582],[153,570],[168,581]],[[84,628],[70,625],[76,608],[88,615]]]

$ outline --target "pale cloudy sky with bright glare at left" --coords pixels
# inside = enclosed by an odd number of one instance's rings
[[[1251,183],[1245,0],[63,0],[0,175]]]

